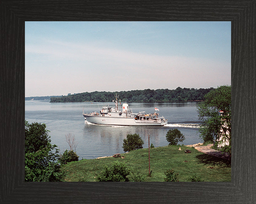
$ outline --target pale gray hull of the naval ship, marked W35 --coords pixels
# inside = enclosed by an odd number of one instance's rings
[[[83,114],[87,122],[99,125],[149,125],[162,126],[167,124],[167,120],[135,120],[133,117],[108,117]]]

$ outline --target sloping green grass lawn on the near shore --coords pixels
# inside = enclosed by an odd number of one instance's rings
[[[181,151],[178,149],[181,148]],[[185,153],[190,149],[191,153]],[[179,173],[179,181],[191,181],[196,175],[203,181],[231,181],[231,165],[228,161],[204,154],[193,147],[166,146],[150,149],[150,170],[148,148],[121,154],[124,158],[83,159],[63,165],[61,170],[66,172],[66,181],[95,181],[95,175],[104,166],[111,166],[115,161],[124,162],[132,172],[146,175],[145,181],[164,181],[165,172],[174,169]],[[185,162],[187,161],[187,162]]]

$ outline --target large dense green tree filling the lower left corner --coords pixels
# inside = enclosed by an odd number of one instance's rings
[[[63,181],[59,151],[51,145],[46,124],[25,121],[25,181]]]

